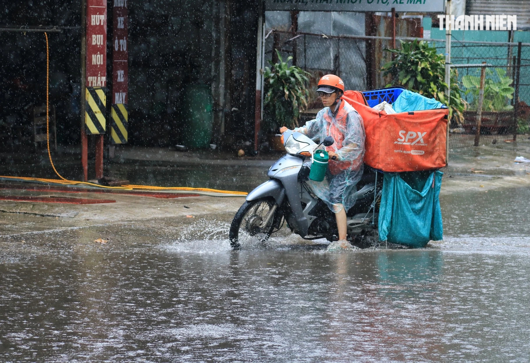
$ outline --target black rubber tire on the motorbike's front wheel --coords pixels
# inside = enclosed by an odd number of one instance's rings
[[[235,213],[228,234],[230,245],[233,249],[239,249],[241,247],[242,236],[240,236],[240,230],[242,228],[243,222],[245,223],[245,226],[243,226],[244,232],[248,233],[249,236],[256,236],[258,242],[266,241],[272,234],[275,226],[278,228],[278,225],[281,221],[281,214],[277,209],[275,215],[272,217],[272,223],[269,223],[269,226],[261,230],[258,224],[263,221],[263,217],[265,216],[258,215],[259,213],[257,210],[260,208],[260,204],[263,204],[263,206],[267,205],[270,211],[270,208],[272,208],[272,206],[275,204],[275,201],[271,198],[260,198],[254,201],[245,201],[245,203],[243,203],[243,205]],[[247,216],[253,208],[255,208],[254,213],[245,218],[245,216]]]

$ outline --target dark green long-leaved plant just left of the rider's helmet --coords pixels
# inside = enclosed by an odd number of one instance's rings
[[[286,62],[278,54],[278,63],[272,64],[271,68],[265,67],[265,99],[264,121],[269,131],[280,126],[294,128],[298,126],[300,109],[307,108],[309,99],[308,76],[311,75],[297,66],[289,66],[288,62],[293,57],[288,57]]]

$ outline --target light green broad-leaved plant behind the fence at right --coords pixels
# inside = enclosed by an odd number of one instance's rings
[[[498,82],[494,82],[492,79],[495,75],[499,79]],[[511,78],[506,76],[506,70],[493,68],[492,71],[486,68],[482,109],[484,111],[509,111],[513,109],[513,106],[510,105],[510,100],[514,97],[514,88],[510,86],[512,82]],[[462,77],[462,84],[467,88],[466,94],[472,94],[471,107],[476,110],[479,103],[480,77],[465,75]]]

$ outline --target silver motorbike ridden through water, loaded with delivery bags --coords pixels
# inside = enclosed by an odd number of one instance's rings
[[[332,137],[326,137],[320,144],[291,130],[281,137],[287,154],[270,167],[267,173],[270,179],[246,196],[232,220],[229,239],[234,249],[247,243],[263,243],[285,222],[304,239],[338,239],[335,215],[306,183],[311,169],[304,165],[320,145],[332,145]],[[364,247],[374,239],[369,236],[377,235],[382,186],[382,176],[378,177],[375,169],[365,165],[357,184],[357,202],[347,211],[350,243]]]

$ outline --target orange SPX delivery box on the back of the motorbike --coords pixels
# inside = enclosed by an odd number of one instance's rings
[[[447,165],[447,108],[387,115],[366,105],[363,93],[342,99],[363,117],[366,165],[382,171],[420,171]]]

